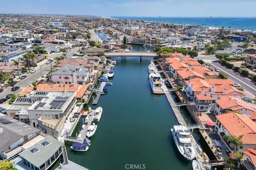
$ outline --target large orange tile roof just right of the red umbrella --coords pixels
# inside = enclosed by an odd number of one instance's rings
[[[244,134],[256,133],[256,123],[245,114],[242,115],[231,112],[218,115],[216,118],[230,135],[239,137]]]

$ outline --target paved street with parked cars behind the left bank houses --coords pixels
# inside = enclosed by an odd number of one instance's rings
[[[78,49],[79,47],[76,47],[74,49],[71,49],[69,52],[67,52],[67,58],[71,58],[73,54],[77,52]],[[47,56],[51,57],[54,60],[55,57],[61,56],[61,55],[62,53],[50,54]],[[45,64],[45,63],[46,63],[46,60],[44,60],[41,63],[38,63],[38,65],[41,65],[41,69],[40,69],[40,66],[37,66],[35,67],[36,69],[35,73],[26,74],[27,77],[25,79],[19,80],[18,83],[15,84],[15,86],[19,86],[20,89],[15,91],[14,93],[19,94],[25,87],[29,86],[32,82],[41,78],[41,75],[43,76],[44,74],[49,72],[51,70],[51,64]],[[54,66],[54,61],[52,62],[52,66]],[[13,92],[11,91],[11,88],[12,87],[5,88],[4,91],[0,93],[0,98],[5,98],[7,94],[13,94]]]

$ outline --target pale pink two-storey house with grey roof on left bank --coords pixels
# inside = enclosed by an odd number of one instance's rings
[[[86,67],[65,65],[58,67],[49,77],[53,83],[64,84],[87,84],[90,79],[90,73]]]

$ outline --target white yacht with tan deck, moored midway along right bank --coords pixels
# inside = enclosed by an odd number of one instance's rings
[[[149,82],[154,94],[164,94],[163,82],[159,74],[150,73]]]

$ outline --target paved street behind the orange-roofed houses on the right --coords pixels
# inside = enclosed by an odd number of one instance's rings
[[[221,72],[225,72],[228,75],[228,78],[241,84],[241,87],[249,92],[251,96],[256,95],[256,83],[251,81],[248,78],[243,77],[241,74],[234,72],[233,70],[227,69],[225,66],[222,66],[218,61],[212,61],[209,63],[212,65],[212,69],[219,69]]]

